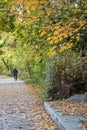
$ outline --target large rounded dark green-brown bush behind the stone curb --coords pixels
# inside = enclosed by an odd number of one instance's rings
[[[52,87],[47,90],[47,94],[51,100],[87,91],[86,56],[80,57],[71,51],[58,54],[49,71]]]

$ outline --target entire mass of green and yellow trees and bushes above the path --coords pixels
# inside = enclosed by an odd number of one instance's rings
[[[44,87],[46,97],[85,88],[87,1],[8,0],[0,7],[1,70],[18,68],[22,79]]]

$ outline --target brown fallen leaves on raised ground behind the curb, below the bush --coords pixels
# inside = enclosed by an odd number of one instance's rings
[[[51,101],[50,106],[57,111],[68,113],[72,116],[83,116],[87,119],[87,102],[75,102],[75,101]],[[80,130],[87,130],[87,120],[82,121],[83,126]]]

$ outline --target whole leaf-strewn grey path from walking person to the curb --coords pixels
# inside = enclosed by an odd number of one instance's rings
[[[0,78],[0,130],[56,130],[38,96],[13,78]]]

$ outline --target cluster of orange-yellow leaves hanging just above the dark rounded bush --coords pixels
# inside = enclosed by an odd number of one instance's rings
[[[79,31],[80,29],[86,29],[85,25],[86,22],[84,19],[79,20],[76,18],[71,18],[65,25],[61,26],[59,24],[55,24],[53,26],[47,26],[45,27],[45,29],[47,29],[47,31],[52,31],[52,33],[48,35],[47,41],[49,42],[49,44],[54,44],[54,46],[55,43],[59,44],[60,42],[62,42],[62,44],[59,46],[59,52],[63,52],[67,49],[72,48],[73,42],[71,42],[71,40],[80,40],[81,34],[79,33]],[[70,40],[67,43],[66,38],[68,37],[70,37]]]

